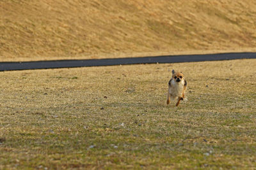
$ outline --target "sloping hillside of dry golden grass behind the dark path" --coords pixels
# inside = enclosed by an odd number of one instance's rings
[[[256,1],[1,0],[0,60],[256,51]]]

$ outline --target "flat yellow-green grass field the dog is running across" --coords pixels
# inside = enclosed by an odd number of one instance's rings
[[[255,169],[256,60],[0,73],[0,169]],[[188,101],[166,106],[171,70]]]

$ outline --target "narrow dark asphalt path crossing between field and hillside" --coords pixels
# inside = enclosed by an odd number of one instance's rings
[[[24,69],[52,69],[65,67],[115,66],[126,64],[153,64],[174,62],[198,62],[212,60],[256,59],[256,53],[215,53],[206,55],[164,55],[123,59],[49,60],[35,62],[0,62],[0,71]]]

